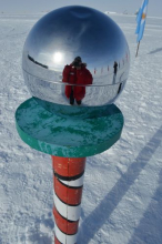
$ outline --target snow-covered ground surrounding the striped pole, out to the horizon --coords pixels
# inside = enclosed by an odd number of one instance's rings
[[[30,98],[21,53],[41,17],[0,16],[0,244],[53,243],[51,159],[24,144],[14,111]],[[135,59],[135,17],[112,16],[128,39],[130,78],[117,101],[125,124],[88,157],[78,244],[162,243],[162,19],[148,18]]]

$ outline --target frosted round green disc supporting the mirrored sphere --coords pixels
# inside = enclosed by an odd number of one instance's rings
[[[17,130],[31,148],[50,155],[85,157],[111,148],[123,128],[123,115],[114,104],[91,119],[50,113],[34,99],[23,102],[16,112]]]

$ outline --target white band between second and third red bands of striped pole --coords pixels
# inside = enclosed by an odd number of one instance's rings
[[[69,206],[62,203],[59,197],[54,194],[54,205],[58,212],[69,221],[78,221],[81,214],[81,204],[78,206]]]

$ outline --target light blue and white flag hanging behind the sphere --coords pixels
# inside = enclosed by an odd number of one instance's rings
[[[138,23],[136,30],[135,30],[135,33],[138,34],[136,42],[140,42],[143,37],[146,12],[148,12],[148,4],[149,4],[149,0],[143,0],[142,6],[136,16],[136,23]]]

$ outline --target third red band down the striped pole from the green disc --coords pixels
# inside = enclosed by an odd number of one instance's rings
[[[79,221],[69,222],[63,218],[57,211],[55,206],[53,207],[53,215],[57,226],[67,235],[74,235],[78,232]]]

